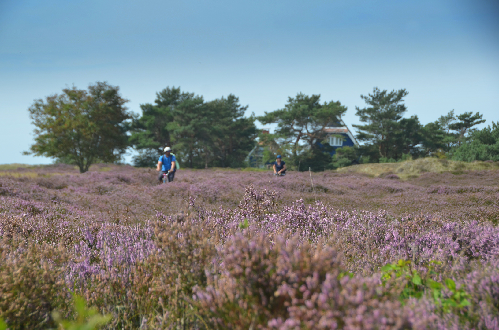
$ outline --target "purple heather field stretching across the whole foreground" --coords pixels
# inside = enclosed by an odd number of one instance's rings
[[[0,317],[49,329],[499,330],[499,170],[0,171]]]

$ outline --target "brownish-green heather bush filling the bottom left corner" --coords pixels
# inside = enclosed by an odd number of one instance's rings
[[[0,318],[11,330],[55,326],[52,310],[69,311],[65,249],[5,237],[0,254]]]

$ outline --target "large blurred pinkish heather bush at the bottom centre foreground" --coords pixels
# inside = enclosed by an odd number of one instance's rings
[[[210,328],[398,329],[409,324],[401,304],[386,301],[379,280],[345,275],[332,247],[299,241],[277,237],[272,244],[250,229],[232,236],[214,272],[220,276],[212,276],[194,296]]]

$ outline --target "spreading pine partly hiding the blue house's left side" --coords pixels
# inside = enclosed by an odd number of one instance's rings
[[[276,123],[276,135],[281,146],[290,147],[290,154],[296,165],[309,164],[314,170],[323,170],[323,164],[330,162],[330,155],[319,148],[327,133],[327,126],[339,122],[347,108],[339,101],[320,103],[320,95],[296,94],[295,98],[288,97],[284,108],[257,117],[262,124]],[[308,160],[308,161],[307,161]],[[308,165],[300,165],[300,169],[308,169]]]

